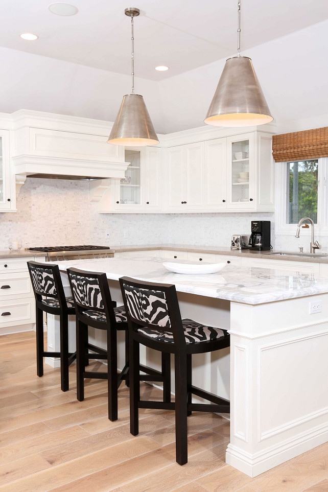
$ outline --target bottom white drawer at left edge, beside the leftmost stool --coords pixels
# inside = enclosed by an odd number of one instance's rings
[[[34,297],[10,302],[0,301],[0,329],[30,323],[35,323]]]

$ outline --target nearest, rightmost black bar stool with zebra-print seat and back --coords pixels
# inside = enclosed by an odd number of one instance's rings
[[[181,319],[174,285],[138,282],[120,278],[129,325],[130,347],[130,431],[138,434],[138,409],[175,410],[176,460],[188,461],[187,416],[193,410],[229,413],[229,401],[192,385],[192,354],[229,347],[225,330],[204,326],[191,319]],[[174,354],[175,403],[140,401],[138,364],[139,344]],[[213,404],[192,403],[195,394]]]

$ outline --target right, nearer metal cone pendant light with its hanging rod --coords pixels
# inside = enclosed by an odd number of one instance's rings
[[[240,54],[240,0],[238,1],[238,56],[225,62],[217,90],[204,120],[208,125],[246,127],[273,120],[252,60]]]

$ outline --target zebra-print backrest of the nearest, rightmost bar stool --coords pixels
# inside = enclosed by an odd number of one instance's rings
[[[175,342],[184,343],[182,320],[174,285],[141,283],[129,277],[120,278],[123,301],[128,318],[141,326],[173,333]]]

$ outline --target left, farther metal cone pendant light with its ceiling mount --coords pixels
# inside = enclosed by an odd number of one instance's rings
[[[125,9],[124,13],[131,17],[132,90],[131,94],[123,97],[107,142],[109,144],[127,146],[155,145],[158,144],[159,140],[148,114],[144,98],[134,93],[133,18],[137,17],[140,11],[135,7],[129,7]]]

